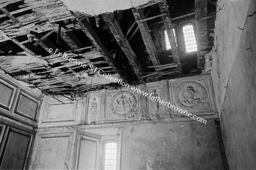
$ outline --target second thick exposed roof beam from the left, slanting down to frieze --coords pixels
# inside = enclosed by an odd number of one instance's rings
[[[112,32],[113,36],[116,39],[116,42],[120,45],[122,48],[122,51],[124,52],[125,56],[128,58],[129,62],[131,63],[134,73],[137,75],[139,79],[142,78],[141,72],[143,72],[143,68],[140,65],[140,63],[137,61],[137,56],[134,53],[134,51],[131,49],[131,45],[126,39],[125,35],[122,32],[122,29],[119,26],[119,23],[117,22],[115,16],[113,13],[110,14],[103,14],[105,23],[108,25],[108,28]]]

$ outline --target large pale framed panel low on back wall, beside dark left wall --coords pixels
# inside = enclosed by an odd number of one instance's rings
[[[69,166],[73,133],[40,134],[33,170],[66,170]]]

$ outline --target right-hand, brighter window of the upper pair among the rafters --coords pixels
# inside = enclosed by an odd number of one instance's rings
[[[197,51],[193,25],[190,24],[190,25],[183,26],[182,31],[183,31],[184,40],[185,40],[186,52],[189,53],[192,51]]]

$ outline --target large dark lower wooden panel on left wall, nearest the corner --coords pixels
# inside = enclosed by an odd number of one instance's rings
[[[26,167],[32,142],[32,133],[7,127],[1,146],[0,169],[22,170]]]

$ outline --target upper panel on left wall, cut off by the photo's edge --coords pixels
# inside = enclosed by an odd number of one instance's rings
[[[17,88],[0,79],[0,108],[11,111],[13,99]]]

